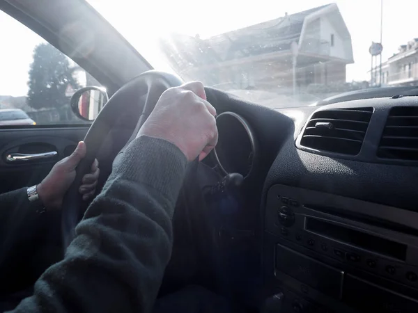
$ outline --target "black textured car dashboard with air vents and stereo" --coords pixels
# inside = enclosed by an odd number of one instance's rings
[[[245,168],[251,156],[240,218],[255,230],[260,310],[417,312],[418,99],[272,110],[206,93],[254,138],[227,121],[216,161]]]

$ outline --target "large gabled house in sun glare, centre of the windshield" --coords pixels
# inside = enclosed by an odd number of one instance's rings
[[[277,92],[345,83],[351,36],[335,3],[201,39],[174,34],[162,51],[185,80]]]

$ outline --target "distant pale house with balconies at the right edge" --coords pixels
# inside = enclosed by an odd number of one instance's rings
[[[371,86],[379,86],[380,67],[373,68],[372,78]],[[407,45],[399,46],[398,52],[382,63],[382,86],[412,86],[417,83],[418,38],[415,38]]]

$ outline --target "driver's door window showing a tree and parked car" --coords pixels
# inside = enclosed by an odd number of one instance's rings
[[[0,126],[75,125],[70,97],[100,86],[38,34],[0,10]]]

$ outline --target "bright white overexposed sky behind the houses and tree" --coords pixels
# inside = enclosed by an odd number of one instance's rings
[[[369,47],[380,41],[381,0],[336,0],[351,34],[355,63],[347,81],[368,79]],[[89,0],[131,44],[159,70],[168,70],[156,39],[171,32],[201,38],[240,29],[332,1],[323,0]],[[383,0],[382,61],[399,45],[418,38],[418,1]],[[26,95],[33,48],[42,38],[0,11],[0,95]]]

